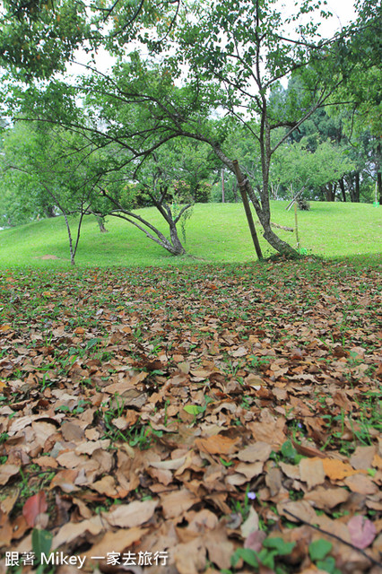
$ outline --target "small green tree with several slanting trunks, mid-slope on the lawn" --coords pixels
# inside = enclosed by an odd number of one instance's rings
[[[185,241],[186,222],[192,205],[198,199],[208,200],[209,187],[205,178],[209,168],[203,145],[181,140],[169,141],[147,155],[139,166],[131,161],[123,146],[114,143],[111,147],[112,152],[102,153],[98,166],[101,178],[97,187],[107,201],[103,202],[102,207],[93,203],[93,213],[101,217],[109,215],[124,219],[171,255],[184,255],[186,249],[179,239],[178,226]],[[169,229],[168,237],[142,213],[135,211],[136,207],[143,205],[153,205],[161,213]]]

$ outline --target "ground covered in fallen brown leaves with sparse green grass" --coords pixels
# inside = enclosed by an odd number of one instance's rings
[[[4,552],[34,527],[82,571],[245,573],[231,555],[266,533],[297,543],[278,571],[324,571],[323,539],[326,571],[380,571],[377,269],[9,271],[0,290]]]

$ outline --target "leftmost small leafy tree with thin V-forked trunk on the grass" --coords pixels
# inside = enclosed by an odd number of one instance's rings
[[[48,204],[65,219],[74,265],[82,220],[91,213],[91,196],[99,175],[91,169],[89,142],[60,127],[18,123],[4,137],[3,184],[19,213],[34,219]],[[76,231],[70,215],[78,215]],[[5,213],[5,220],[10,215]]]

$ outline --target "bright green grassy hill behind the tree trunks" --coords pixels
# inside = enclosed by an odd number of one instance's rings
[[[272,202],[272,221],[294,227],[287,202]],[[140,210],[143,217],[167,232],[154,208]],[[364,256],[381,251],[382,207],[370,204],[312,202],[310,212],[298,212],[300,245],[326,257]],[[75,228],[75,219],[71,220]],[[164,223],[164,222],[163,222]],[[172,257],[143,233],[121,220],[109,218],[109,233],[100,233],[93,217],[82,224],[76,265],[173,265],[192,263],[190,257]],[[256,225],[264,255],[272,249]],[[187,222],[187,253],[206,263],[246,262],[256,259],[242,204],[196,204]],[[294,233],[275,230],[296,245]],[[43,259],[55,256],[57,259]],[[63,217],[31,222],[0,231],[0,267],[69,265],[69,247]]]

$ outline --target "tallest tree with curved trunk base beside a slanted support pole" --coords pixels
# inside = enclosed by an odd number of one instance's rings
[[[317,7],[321,19],[328,17],[319,2],[315,5],[308,0],[286,20],[275,9],[273,0],[195,4],[194,13],[186,18],[178,34],[178,57],[189,65],[193,91],[205,95],[209,83],[210,92],[214,87],[213,95],[219,98],[226,114],[238,118],[243,130],[256,139],[262,179],[258,196],[248,178],[245,188],[262,223],[265,239],[276,250],[291,255],[295,251],[271,229],[269,178],[273,155],[294,130],[326,103],[349,72],[343,57],[344,34],[320,39],[318,23],[310,19],[308,23],[301,22],[304,14],[313,13]],[[294,35],[285,29],[285,23],[296,24]],[[282,109],[273,107],[268,100],[270,90],[282,77],[296,73],[304,83],[300,106],[296,106],[291,91]],[[255,119],[257,126],[253,123]],[[286,131],[280,132],[280,127]],[[276,140],[273,134],[278,134]],[[204,137],[200,132],[196,136]],[[220,142],[209,137],[204,137],[204,141],[211,143],[233,172],[233,161],[221,149]]]

